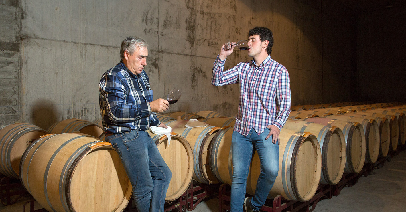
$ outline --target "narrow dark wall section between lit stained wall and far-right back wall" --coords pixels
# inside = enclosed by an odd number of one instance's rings
[[[356,14],[323,1],[323,103],[356,100]]]

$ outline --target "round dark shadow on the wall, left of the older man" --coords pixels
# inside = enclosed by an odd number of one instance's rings
[[[46,130],[59,121],[56,106],[47,99],[37,100],[31,110],[32,124]]]

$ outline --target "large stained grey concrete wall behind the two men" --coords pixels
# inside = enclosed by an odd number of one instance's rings
[[[120,42],[128,35],[149,43],[145,71],[154,97],[164,98],[173,87],[183,92],[169,112],[236,114],[238,85],[212,86],[212,65],[226,39],[246,39],[254,26],[274,32],[271,56],[289,71],[292,104],[347,101],[352,95],[352,89],[341,82],[350,80],[346,71],[353,70],[347,62],[353,55],[335,50],[341,44],[328,41],[337,33],[341,41],[354,40],[356,21],[337,19],[341,13],[350,13],[339,4],[321,0],[126,0],[120,4],[2,0],[0,4],[1,13],[7,13],[0,22],[9,24],[1,26],[2,42],[15,43],[0,49],[6,54],[1,60],[14,64],[9,65],[12,71],[0,69],[4,92],[0,98],[9,101],[1,106],[15,110],[0,115],[2,125],[24,121],[48,128],[62,119],[98,118],[97,84],[119,61]],[[351,52],[356,46],[349,41],[345,48]],[[237,50],[226,67],[250,59]],[[337,71],[344,74],[330,76]]]

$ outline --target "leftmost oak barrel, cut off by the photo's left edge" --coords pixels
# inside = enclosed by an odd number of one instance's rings
[[[48,134],[30,123],[14,123],[0,129],[0,173],[19,178],[20,160],[33,141]]]

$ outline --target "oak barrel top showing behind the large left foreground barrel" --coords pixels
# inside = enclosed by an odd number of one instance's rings
[[[47,130],[50,133],[80,132],[91,136],[99,137],[103,128],[93,122],[83,119],[65,119],[54,123]]]

